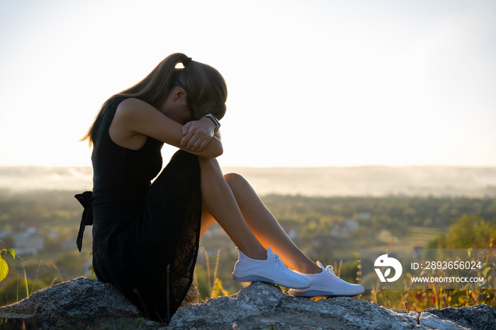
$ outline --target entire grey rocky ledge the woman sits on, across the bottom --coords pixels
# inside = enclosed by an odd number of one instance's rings
[[[166,326],[143,319],[112,285],[77,278],[1,307],[0,329],[496,329],[487,305],[403,312],[348,297],[315,302],[258,282],[201,303],[193,288],[186,300]]]

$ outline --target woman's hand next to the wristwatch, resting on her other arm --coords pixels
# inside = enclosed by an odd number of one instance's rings
[[[190,152],[201,152],[214,135],[215,124],[210,118],[193,120],[183,126],[181,149]]]

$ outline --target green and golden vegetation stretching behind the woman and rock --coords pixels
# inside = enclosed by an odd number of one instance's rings
[[[0,239],[16,249],[16,259],[2,258],[9,275],[0,283],[0,304],[23,299],[33,291],[81,275],[94,276],[91,266],[91,229],[81,254],[75,240],[81,205],[62,190],[11,193],[0,190]],[[496,236],[494,198],[335,197],[266,195],[262,198],[293,241],[313,260],[331,264],[345,280],[356,282],[359,250],[425,248],[487,248]],[[43,241],[35,253],[22,251],[18,235],[28,228]],[[35,241],[32,239],[31,241]],[[195,283],[201,300],[237,292],[242,284],[231,279],[237,250],[217,224],[201,238]],[[210,256],[210,258],[208,258]],[[215,260],[214,260],[215,259]],[[492,276],[495,266],[481,271]],[[25,276],[26,274],[26,276]],[[487,276],[485,276],[487,277]],[[407,288],[405,288],[407,289]],[[433,298],[434,297],[434,298]],[[424,309],[486,302],[494,306],[494,285],[481,290],[384,290],[363,295],[397,309]]]

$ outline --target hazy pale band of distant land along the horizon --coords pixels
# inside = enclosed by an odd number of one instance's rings
[[[496,167],[226,167],[259,195],[495,197]],[[0,188],[89,190],[89,167],[0,167]]]

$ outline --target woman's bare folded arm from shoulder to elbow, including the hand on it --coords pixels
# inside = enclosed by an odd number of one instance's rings
[[[115,110],[108,132],[115,143],[130,149],[142,147],[149,136],[201,157],[215,158],[222,154],[220,140],[205,134],[206,127],[212,127],[211,120],[205,118],[188,124],[186,127],[177,123],[137,98],[127,98]]]

